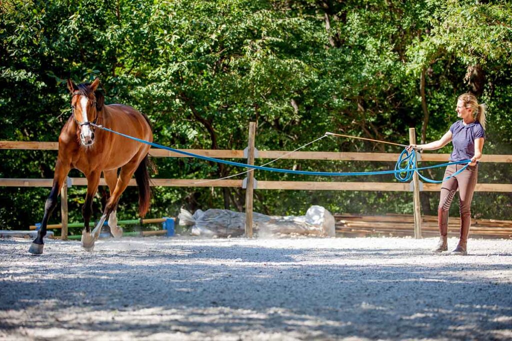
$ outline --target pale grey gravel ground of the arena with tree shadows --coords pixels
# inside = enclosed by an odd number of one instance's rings
[[[0,239],[0,339],[512,339],[512,240],[436,241]]]

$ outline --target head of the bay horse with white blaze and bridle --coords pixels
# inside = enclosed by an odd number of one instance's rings
[[[68,89],[71,92],[71,108],[73,109],[73,118],[79,129],[80,142],[83,146],[92,146],[94,143],[95,127],[98,116],[103,108],[103,95],[97,91],[99,78],[96,78],[91,84],[74,84],[68,79]]]

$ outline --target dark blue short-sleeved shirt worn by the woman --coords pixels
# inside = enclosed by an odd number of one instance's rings
[[[475,140],[485,139],[485,131],[478,121],[468,125],[464,125],[462,120],[457,121],[452,124],[450,131],[453,144],[450,161],[463,161],[472,158],[475,156]]]

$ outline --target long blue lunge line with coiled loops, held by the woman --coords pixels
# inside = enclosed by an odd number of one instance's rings
[[[221,159],[215,158],[215,157],[208,157],[208,156],[198,155],[198,154],[190,153],[190,152],[187,152],[187,151],[184,151],[184,150],[179,150],[179,149],[175,149],[175,148],[159,145],[158,143],[149,142],[149,141],[141,140],[141,139],[138,139],[138,138],[134,138],[134,137],[132,137],[130,135],[126,135],[126,134],[123,134],[121,132],[117,132],[117,131],[114,131],[112,129],[105,128],[105,127],[103,127],[102,125],[99,125],[99,124],[91,123],[91,125],[93,125],[93,126],[95,126],[97,128],[103,129],[105,131],[110,131],[110,132],[112,132],[114,134],[118,134],[118,135],[120,135],[122,137],[125,137],[127,139],[138,141],[138,142],[144,143],[146,145],[150,145],[150,146],[153,146],[153,147],[156,147],[156,148],[160,148],[160,149],[165,149],[165,150],[172,151],[172,152],[175,152],[175,153],[178,153],[178,154],[183,154],[183,155],[187,155],[187,156],[192,156],[192,157],[200,158],[201,160],[217,162],[217,163],[231,165],[231,166],[237,166],[237,167],[245,167],[245,168],[250,168],[250,169],[259,169],[259,170],[265,170],[265,171],[270,171],[270,172],[279,172],[279,173],[290,173],[290,174],[301,174],[301,175],[323,175],[323,176],[350,176],[350,175],[354,175],[355,176],[355,175],[395,174],[395,176],[396,176],[396,178],[398,180],[404,182],[404,181],[409,181],[411,179],[411,177],[412,177],[413,172],[417,172],[419,170],[429,169],[429,168],[437,168],[437,167],[444,167],[444,166],[449,166],[449,165],[458,165],[458,164],[464,164],[464,163],[471,162],[471,160],[464,160],[464,161],[445,163],[445,164],[436,165],[436,166],[415,168],[414,167],[415,160],[416,160],[415,152],[411,151],[409,153],[409,152],[407,152],[407,150],[404,150],[400,154],[399,160],[397,162],[397,166],[395,166],[395,170],[392,170],[392,171],[338,172],[338,173],[298,171],[298,170],[291,170],[291,169],[282,169],[282,168],[271,168],[271,167],[247,165],[247,164],[242,164],[242,163],[239,163],[239,162],[232,162],[232,161],[221,160]],[[402,157],[404,152],[406,153],[406,157],[405,158]],[[412,156],[412,155],[414,155],[414,156]],[[402,160],[402,158],[403,158],[403,160]],[[408,162],[408,164],[407,164],[407,166],[405,168],[398,167],[400,164],[403,163],[403,161],[407,161],[408,159],[410,159],[410,161]],[[455,176],[455,175],[459,174],[462,170],[464,170],[464,168],[462,168],[460,171],[458,171],[457,173],[453,174],[452,176]],[[398,175],[400,173],[406,173],[407,175],[405,177],[400,177]],[[419,174],[419,173],[418,173],[418,175],[421,176],[421,174]],[[425,179],[425,181],[429,181],[429,182],[431,182],[431,181],[434,182],[435,181],[435,180],[426,179],[423,176],[421,176],[421,178]],[[448,178],[446,178],[446,179],[448,179]],[[442,181],[436,181],[436,183],[442,183]]]

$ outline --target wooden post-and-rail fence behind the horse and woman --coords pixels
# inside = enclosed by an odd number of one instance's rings
[[[252,126],[251,126],[252,125]],[[247,164],[253,165],[255,158],[292,160],[326,160],[326,161],[372,161],[372,162],[396,162],[398,153],[359,153],[359,152],[308,152],[296,151],[289,154],[288,151],[257,151],[254,150],[255,124],[249,126],[248,146],[244,150],[211,150],[211,149],[182,149],[184,151],[215,158],[247,158]],[[414,128],[410,129],[410,143],[415,141]],[[0,141],[0,149],[20,150],[58,150],[57,142],[21,142],[21,141]],[[183,154],[170,152],[162,149],[152,148],[152,157],[189,157]],[[420,162],[447,162],[449,154],[422,153]],[[483,163],[512,163],[512,155],[483,155],[480,162]],[[361,182],[361,181],[253,181],[253,172],[247,173],[245,180],[211,180],[211,179],[165,179],[153,178],[153,186],[164,187],[238,187],[250,189],[246,192],[246,236],[252,236],[252,200],[253,190],[336,190],[336,191],[398,191],[413,192],[414,202],[414,232],[416,238],[421,238],[421,214],[419,205],[419,192],[440,191],[440,184],[420,184],[417,174],[410,183],[382,183],[382,182]],[[53,179],[35,178],[0,178],[0,186],[8,187],[51,187]],[[250,186],[250,184],[253,186]],[[68,178],[67,184],[63,187],[62,194],[62,222],[67,223],[67,187],[86,186],[86,178]],[[100,185],[106,185],[104,179]],[[135,179],[132,179],[130,186],[136,186]],[[512,184],[477,184],[477,192],[512,192]],[[63,238],[67,235],[67,229],[62,229]],[[66,234],[66,235],[65,235]]]

